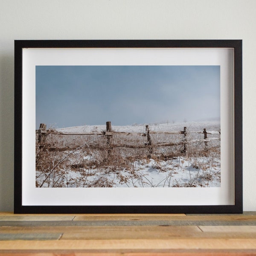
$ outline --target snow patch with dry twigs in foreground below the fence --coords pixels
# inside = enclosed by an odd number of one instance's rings
[[[198,160],[198,159],[197,159]],[[68,170],[62,173],[62,180],[68,187],[81,187],[87,184],[102,184],[113,187],[218,187],[220,186],[220,163],[209,167],[207,157],[201,158],[199,165],[195,162],[177,157],[172,160],[157,162],[150,160],[137,160],[133,163],[134,169],[111,170],[111,167],[102,169],[84,169],[83,172]],[[39,175],[39,172],[37,172]],[[55,174],[56,180],[59,175]],[[52,176],[51,176],[52,178]],[[38,183],[43,177],[38,177]],[[58,180],[60,182],[60,180]],[[44,186],[47,186],[45,183]]]

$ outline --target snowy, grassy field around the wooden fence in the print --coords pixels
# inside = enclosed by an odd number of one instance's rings
[[[209,122],[169,122],[151,124],[150,131],[183,131],[187,127],[189,139],[202,139],[204,134],[191,131],[220,131],[219,121]],[[56,129],[62,132],[101,132],[105,125],[83,125]],[[113,131],[145,132],[145,125],[114,126]],[[168,137],[169,136],[169,137]],[[176,140],[183,135],[151,135],[152,142]],[[57,137],[57,138],[56,138]],[[117,136],[118,137],[118,136]],[[210,137],[210,136],[209,136]],[[146,137],[121,136],[116,140],[125,144],[144,145]],[[191,143],[187,152],[180,153],[180,146],[153,148],[148,158],[148,149],[113,148],[108,150],[91,149],[93,143],[104,144],[101,135],[55,136],[48,143],[61,146],[82,145],[73,151],[47,150],[37,152],[36,186],[38,187],[219,187],[221,185],[220,143],[210,142],[207,151],[204,142]],[[102,142],[103,140],[103,142]],[[80,142],[80,144],[78,144]],[[61,144],[61,145],[60,145]]]

